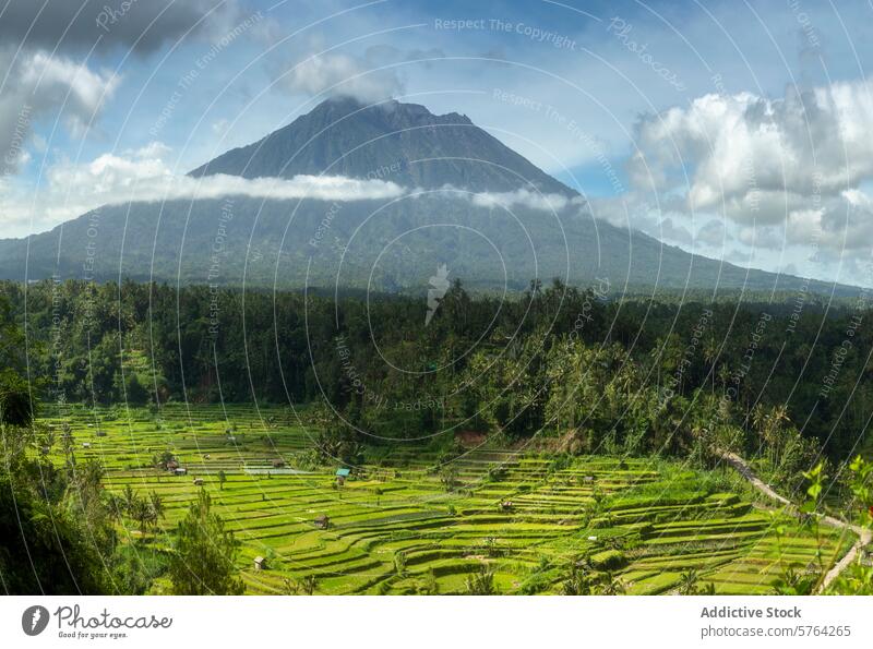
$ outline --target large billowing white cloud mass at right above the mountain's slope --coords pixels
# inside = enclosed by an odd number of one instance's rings
[[[683,212],[737,224],[746,245],[873,243],[873,92],[865,80],[766,98],[706,95],[636,127],[629,172],[638,195],[679,195]],[[708,226],[697,239],[720,242]]]

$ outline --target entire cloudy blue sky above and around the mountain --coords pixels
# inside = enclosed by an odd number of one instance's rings
[[[466,113],[613,223],[873,285],[869,3],[34,4],[0,15],[3,236],[184,173],[332,94],[393,96]]]

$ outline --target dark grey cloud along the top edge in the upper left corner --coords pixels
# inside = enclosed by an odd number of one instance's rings
[[[168,40],[215,35],[239,14],[235,0],[11,0],[0,8],[0,41],[49,50],[87,51],[96,45],[144,52]]]

